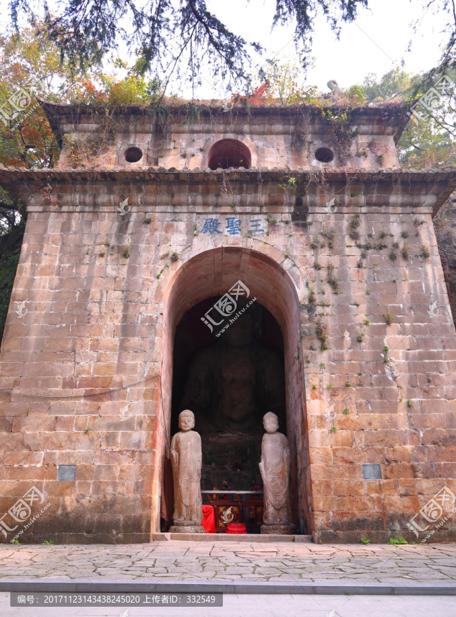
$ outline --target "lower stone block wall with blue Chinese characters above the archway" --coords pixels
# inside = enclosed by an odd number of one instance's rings
[[[51,503],[23,540],[149,540],[174,329],[238,279],[283,331],[302,533],[415,540],[409,519],[456,494],[456,333],[431,222],[454,172],[57,170],[57,205],[46,173],[1,171],[29,215],[0,355],[0,513],[32,486]]]

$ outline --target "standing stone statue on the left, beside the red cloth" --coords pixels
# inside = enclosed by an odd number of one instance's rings
[[[206,533],[202,527],[201,437],[195,426],[193,411],[179,414],[180,432],[171,441],[171,464],[174,481],[174,513],[171,532]]]

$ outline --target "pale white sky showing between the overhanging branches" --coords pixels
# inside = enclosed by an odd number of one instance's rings
[[[141,0],[136,0],[139,4]],[[178,0],[176,0],[178,1]],[[5,15],[8,0],[0,0],[1,13]],[[327,82],[335,80],[342,88],[361,84],[365,75],[374,73],[381,77],[396,67],[407,73],[422,73],[438,63],[442,45],[448,34],[442,32],[446,23],[445,14],[424,14],[424,0],[369,0],[369,9],[359,9],[354,23],[344,24],[339,40],[331,31],[322,14],[317,15],[313,34],[313,66],[307,74],[307,84],[315,85],[322,92],[328,92]],[[228,29],[248,41],[258,41],[266,48],[265,58],[296,60],[298,56],[293,44],[293,26],[278,26],[271,31],[275,11],[275,0],[206,0],[207,8],[213,12]],[[32,0],[36,8],[43,6],[43,0]],[[441,2],[437,2],[439,6]],[[58,12],[58,1],[50,0],[51,10]],[[6,10],[5,10],[6,9]],[[424,15],[424,16],[423,16]],[[413,33],[411,23],[420,19],[418,32]],[[119,24],[127,31],[130,24]],[[411,41],[411,49],[408,50]],[[123,43],[119,45],[123,60],[128,58]],[[252,70],[262,64],[261,57],[254,56]],[[123,75],[119,73],[119,77]],[[224,87],[213,84],[211,71],[202,69],[202,85],[195,90],[196,99],[224,98],[228,93]],[[178,88],[170,83],[169,90],[191,98],[191,88]]]

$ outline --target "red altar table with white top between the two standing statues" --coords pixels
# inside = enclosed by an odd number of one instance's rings
[[[245,533],[260,533],[263,491],[202,491],[203,503],[214,507],[215,529],[225,533],[228,524],[243,523]],[[232,533],[232,532],[231,532]]]

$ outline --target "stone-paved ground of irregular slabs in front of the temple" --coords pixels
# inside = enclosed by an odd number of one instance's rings
[[[0,578],[180,581],[456,581],[456,544],[294,542],[0,545]],[[456,605],[456,600],[453,597]],[[455,608],[456,616],[456,608]],[[31,616],[32,617],[32,616]]]

